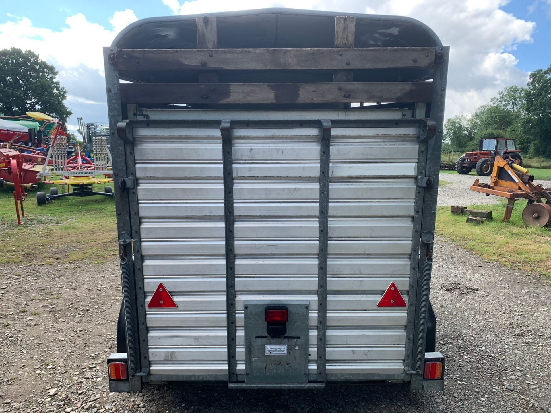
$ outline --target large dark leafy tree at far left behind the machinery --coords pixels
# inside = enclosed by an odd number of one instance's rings
[[[56,68],[36,53],[15,47],[1,50],[0,73],[0,113],[17,116],[39,111],[63,123],[71,116],[64,104],[67,90],[56,80]]]

